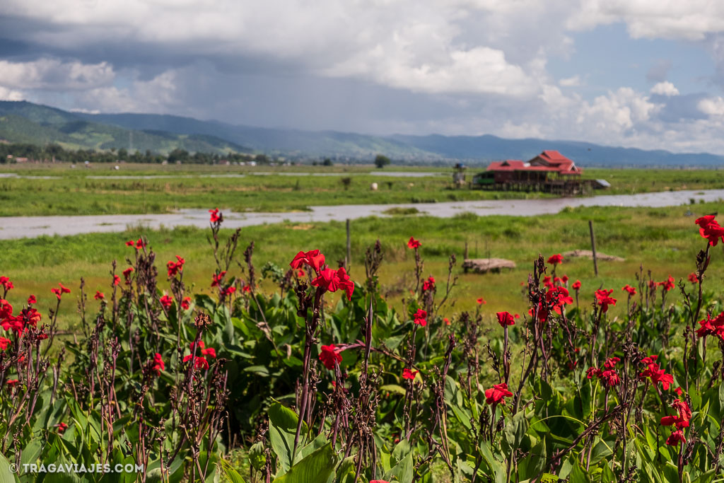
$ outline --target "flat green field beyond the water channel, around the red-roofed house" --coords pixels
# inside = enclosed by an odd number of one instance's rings
[[[374,167],[369,166],[252,168],[123,164],[116,171],[101,164],[95,164],[91,169],[80,166],[71,169],[68,164],[13,165],[1,167],[0,175],[33,178],[0,177],[0,216],[169,213],[211,206],[239,212],[303,211],[308,206],[342,203],[431,203],[548,196],[456,189],[451,183],[451,169],[387,168],[387,171],[395,172],[445,173],[429,177],[388,177],[372,175],[372,171]],[[468,180],[477,171],[471,168]],[[259,172],[273,174],[255,175]],[[310,176],[308,173],[329,176]],[[212,177],[214,175],[245,176]],[[111,176],[156,177],[114,179]],[[724,177],[719,172],[704,169],[587,169],[585,177],[608,180],[612,188],[605,191],[607,194],[724,188]],[[345,185],[345,179],[349,180],[348,185]],[[378,184],[378,190],[370,190],[372,182]]]

